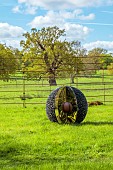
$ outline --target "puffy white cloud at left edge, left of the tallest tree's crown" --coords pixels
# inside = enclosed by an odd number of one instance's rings
[[[21,27],[0,23],[0,43],[18,48],[20,47],[19,39],[24,32],[25,30]]]

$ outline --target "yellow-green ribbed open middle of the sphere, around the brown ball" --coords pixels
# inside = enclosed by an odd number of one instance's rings
[[[64,103],[72,106],[69,111],[64,111]],[[70,107],[69,106],[69,107]],[[73,89],[69,86],[61,87],[55,96],[55,114],[59,123],[71,123],[76,121],[77,100]]]

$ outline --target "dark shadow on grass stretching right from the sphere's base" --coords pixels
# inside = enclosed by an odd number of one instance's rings
[[[99,121],[99,122],[90,122],[90,121],[87,121],[87,122],[83,122],[81,123],[80,125],[95,125],[95,126],[100,126],[100,125],[113,125],[113,122],[108,122],[108,121]]]

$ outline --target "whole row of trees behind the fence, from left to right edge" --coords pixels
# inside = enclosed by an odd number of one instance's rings
[[[8,81],[11,74],[22,70],[28,79],[47,78],[50,85],[56,85],[57,77],[70,77],[74,83],[78,74],[112,69],[113,56],[106,49],[87,51],[79,41],[67,41],[65,30],[57,26],[32,28],[23,36],[21,51],[0,44],[0,79]]]

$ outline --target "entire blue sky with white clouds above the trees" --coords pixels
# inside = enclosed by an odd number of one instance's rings
[[[87,50],[113,51],[113,0],[0,1],[0,43],[19,48],[26,31],[55,25]]]

